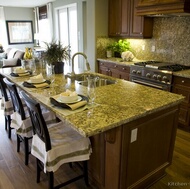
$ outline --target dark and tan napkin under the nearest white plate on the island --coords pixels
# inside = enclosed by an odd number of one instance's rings
[[[72,103],[72,104],[57,101],[57,98],[59,97],[59,95],[50,97],[50,102],[55,106],[59,106],[62,108],[69,108],[71,110],[76,110],[80,107],[85,106],[88,102],[88,98],[86,96],[83,96],[83,95],[78,95],[78,96],[82,97],[82,100],[76,103]]]

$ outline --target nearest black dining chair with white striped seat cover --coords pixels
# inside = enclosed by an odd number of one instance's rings
[[[66,186],[81,178],[84,178],[86,185],[89,185],[87,167],[91,154],[89,138],[83,137],[62,121],[47,125],[40,104],[29,98],[23,91],[21,91],[21,96],[28,107],[34,130],[31,153],[36,157],[37,183],[40,182],[40,172],[44,171],[48,175],[49,189]],[[83,162],[81,175],[54,186],[54,172],[62,164],[80,162],[81,165],[81,161]]]

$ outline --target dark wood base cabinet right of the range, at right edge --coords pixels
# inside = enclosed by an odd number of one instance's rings
[[[185,97],[180,105],[178,125],[180,128],[190,131],[190,79],[174,76],[172,92]]]

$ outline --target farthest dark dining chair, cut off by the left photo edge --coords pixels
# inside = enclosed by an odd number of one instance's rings
[[[0,75],[0,89],[1,89],[1,109],[3,110],[5,116],[5,130],[8,130],[8,138],[11,139],[11,114],[13,114],[12,101],[7,94],[7,86],[3,81],[3,76]]]

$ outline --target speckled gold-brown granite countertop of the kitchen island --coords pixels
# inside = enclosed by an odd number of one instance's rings
[[[29,77],[15,78],[10,76],[8,69],[3,69],[3,71],[1,69],[0,71],[13,80],[22,90],[29,93],[32,98],[56,112],[65,124],[84,136],[96,135],[159,110],[172,107],[184,99],[181,95],[118,79],[116,84],[96,88],[95,103],[97,105],[94,108],[78,113],[73,112],[65,116],[62,108],[55,107],[50,103],[49,97],[65,91],[66,88],[76,90],[78,94],[87,95],[86,87],[77,82],[70,83],[64,75],[56,74],[55,83],[50,88],[31,89],[22,85],[23,81],[28,80]]]

